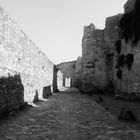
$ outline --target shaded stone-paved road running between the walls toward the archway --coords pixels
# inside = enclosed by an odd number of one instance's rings
[[[72,90],[5,120],[0,140],[140,140],[140,128],[117,121],[92,98]]]

